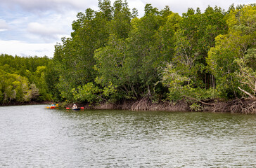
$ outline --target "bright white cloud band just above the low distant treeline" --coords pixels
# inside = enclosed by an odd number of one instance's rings
[[[26,43],[24,41],[0,41],[0,54],[53,57],[56,43]]]

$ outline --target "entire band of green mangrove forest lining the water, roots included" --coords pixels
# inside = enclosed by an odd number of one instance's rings
[[[179,15],[99,0],[53,58],[0,55],[0,105],[256,113],[256,3]],[[71,106],[71,105],[70,105]]]

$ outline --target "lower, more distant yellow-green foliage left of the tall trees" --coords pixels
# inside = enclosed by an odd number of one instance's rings
[[[46,85],[48,57],[0,55],[0,103],[51,100]]]

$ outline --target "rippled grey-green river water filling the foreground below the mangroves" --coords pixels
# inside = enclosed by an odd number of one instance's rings
[[[256,167],[256,116],[4,106],[0,167]]]

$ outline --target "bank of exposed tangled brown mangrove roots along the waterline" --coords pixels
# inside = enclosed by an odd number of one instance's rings
[[[179,101],[177,103],[161,102],[153,103],[150,99],[139,101],[124,101],[119,104],[86,104],[85,109],[121,109],[131,111],[210,111],[220,113],[256,113],[255,99],[234,99],[230,101],[211,100],[197,102],[196,107],[192,103]]]

